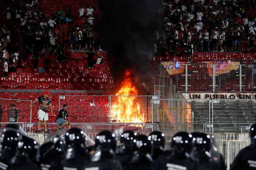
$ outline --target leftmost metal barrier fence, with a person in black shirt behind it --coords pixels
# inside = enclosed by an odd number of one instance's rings
[[[0,104],[1,122],[31,122],[32,100],[0,98]]]

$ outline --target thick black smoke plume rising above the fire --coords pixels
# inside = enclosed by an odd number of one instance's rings
[[[111,49],[109,58],[117,89],[126,69],[133,71],[137,88],[153,86],[149,58],[152,57],[155,31],[161,26],[158,8],[158,0],[100,2],[101,20],[96,30],[102,48]]]

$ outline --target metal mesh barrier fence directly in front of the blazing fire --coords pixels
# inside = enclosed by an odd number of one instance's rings
[[[151,100],[158,96],[59,96],[59,110],[68,105],[71,122],[148,122]]]

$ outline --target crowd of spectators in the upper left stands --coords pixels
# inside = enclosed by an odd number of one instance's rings
[[[56,55],[57,52],[62,53],[68,59],[70,49],[100,49],[93,30],[97,4],[96,9],[84,4],[79,8],[60,6],[57,10],[52,9],[49,16],[39,3],[38,0],[13,0],[6,1],[1,7],[0,68],[3,76],[7,76],[6,72],[15,72],[17,64],[31,51],[41,55],[41,50],[51,50]],[[75,15],[71,14],[71,8],[77,8]],[[35,68],[37,63],[34,62]],[[42,65],[39,63],[39,66]]]

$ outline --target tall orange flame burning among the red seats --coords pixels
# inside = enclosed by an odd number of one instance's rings
[[[144,122],[144,114],[140,111],[139,103],[135,102],[138,90],[131,80],[131,72],[125,72],[125,79],[121,84],[121,89],[116,93],[118,101],[111,106],[111,117],[120,122]]]

